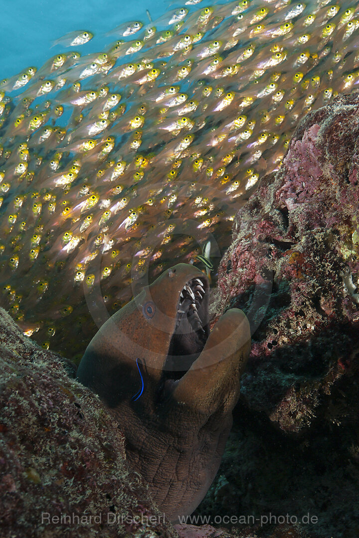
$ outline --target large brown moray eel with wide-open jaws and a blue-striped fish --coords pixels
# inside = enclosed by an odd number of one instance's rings
[[[210,332],[208,300],[207,277],[175,265],[102,325],[78,369],[172,520],[193,512],[216,475],[250,351],[242,310]]]

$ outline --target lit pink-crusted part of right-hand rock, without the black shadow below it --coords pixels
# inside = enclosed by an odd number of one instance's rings
[[[242,398],[288,432],[335,406],[332,387],[357,368],[358,140],[358,93],[310,112],[238,211],[219,269],[213,318],[237,307],[251,322]]]

